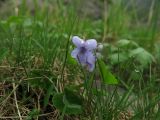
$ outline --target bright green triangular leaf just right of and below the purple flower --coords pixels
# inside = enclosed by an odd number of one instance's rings
[[[118,80],[115,76],[107,69],[106,64],[102,60],[98,60],[101,77],[105,84],[118,84]]]

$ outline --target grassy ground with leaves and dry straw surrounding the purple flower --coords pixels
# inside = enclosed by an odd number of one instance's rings
[[[42,7],[35,0],[34,12],[23,0],[18,15],[1,15],[0,119],[159,120],[160,2],[154,1],[149,23],[122,1],[109,8],[101,1],[98,20],[78,13],[80,1],[63,0]],[[93,73],[71,57],[74,35],[104,44]]]

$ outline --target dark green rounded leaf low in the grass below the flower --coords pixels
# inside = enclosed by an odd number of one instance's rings
[[[81,98],[74,90],[69,88],[65,88],[64,93],[57,93],[52,102],[60,112],[65,112],[65,114],[77,115],[83,112]]]

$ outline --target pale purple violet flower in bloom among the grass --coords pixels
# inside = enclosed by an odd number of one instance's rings
[[[72,51],[72,57],[83,67],[86,67],[88,71],[92,72],[96,62],[94,50],[97,48],[97,41],[95,39],[84,41],[78,36],[73,36],[72,42],[77,47]]]

